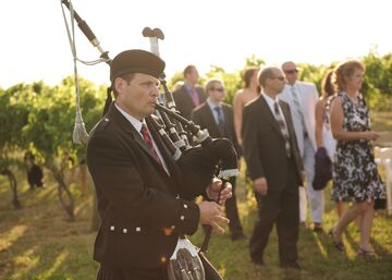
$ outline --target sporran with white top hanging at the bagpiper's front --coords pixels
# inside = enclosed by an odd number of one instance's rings
[[[205,254],[186,238],[179,238],[168,276],[169,280],[223,280]]]

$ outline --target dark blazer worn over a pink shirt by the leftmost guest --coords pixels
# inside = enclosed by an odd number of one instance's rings
[[[200,104],[206,101],[206,95],[203,87],[196,87],[196,92],[199,95]],[[183,85],[179,89],[173,92],[173,98],[175,101],[175,107],[180,111],[180,114],[185,119],[189,120],[191,112],[195,108],[195,105],[192,101],[192,97],[186,89],[186,86]]]

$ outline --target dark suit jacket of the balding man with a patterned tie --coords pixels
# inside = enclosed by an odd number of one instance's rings
[[[303,163],[296,143],[290,107],[279,101],[290,135],[292,157],[298,180],[302,181]],[[252,180],[265,176],[269,192],[281,191],[287,178],[287,157],[284,137],[266,99],[260,95],[244,107],[243,130],[244,156]]]

